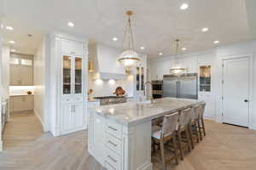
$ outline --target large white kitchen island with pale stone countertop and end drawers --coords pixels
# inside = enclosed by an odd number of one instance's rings
[[[88,151],[109,170],[152,170],[152,120],[199,103],[163,98],[90,109]]]

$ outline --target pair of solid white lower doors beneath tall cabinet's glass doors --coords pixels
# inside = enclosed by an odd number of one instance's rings
[[[83,103],[61,105],[61,134],[84,128]]]

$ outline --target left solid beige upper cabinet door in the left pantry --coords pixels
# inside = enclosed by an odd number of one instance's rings
[[[20,65],[10,65],[9,84],[13,86],[21,85],[20,80]]]

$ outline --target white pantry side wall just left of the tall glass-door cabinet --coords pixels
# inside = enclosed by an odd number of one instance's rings
[[[45,131],[45,37],[34,55],[34,111]]]

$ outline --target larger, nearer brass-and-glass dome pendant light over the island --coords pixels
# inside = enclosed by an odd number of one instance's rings
[[[132,11],[127,11],[126,14],[128,15],[128,23],[125,27],[125,34],[123,37],[123,52],[119,55],[119,63],[124,65],[127,69],[130,69],[133,66],[137,66],[140,63],[140,58],[137,52],[134,49],[134,40],[131,31],[131,15],[133,14]],[[128,37],[127,37],[128,36]],[[125,38],[127,37],[127,47],[125,47]]]

